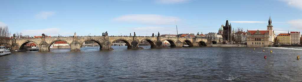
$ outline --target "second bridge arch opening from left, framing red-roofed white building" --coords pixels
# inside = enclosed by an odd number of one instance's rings
[[[56,50],[56,49],[69,49],[70,50],[70,44],[63,40],[56,40],[50,43],[48,49]]]

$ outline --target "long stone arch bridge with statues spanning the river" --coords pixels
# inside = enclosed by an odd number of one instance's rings
[[[71,51],[80,51],[80,47],[85,41],[95,41],[99,46],[100,50],[112,49],[111,45],[116,40],[124,41],[127,44],[128,49],[139,49],[138,44],[141,41],[148,41],[151,44],[151,48],[162,48],[163,41],[168,41],[171,44],[171,48],[182,47],[183,43],[189,45],[189,47],[205,47],[211,46],[211,44],[222,43],[222,38],[178,38],[178,37],[157,37],[151,36],[108,36],[108,33],[103,33],[102,36],[74,36],[71,37],[45,37],[42,34],[42,38],[24,38],[24,39],[11,39],[11,50],[22,51],[25,45],[29,42],[37,44],[40,48],[39,51],[50,51],[50,46],[56,41],[64,41],[70,45]]]

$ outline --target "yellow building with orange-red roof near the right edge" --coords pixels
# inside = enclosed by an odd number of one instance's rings
[[[291,34],[280,33],[277,35],[279,44],[291,44]]]

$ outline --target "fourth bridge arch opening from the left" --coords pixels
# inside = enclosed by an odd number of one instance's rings
[[[117,39],[112,42],[111,48],[113,48],[113,49],[131,49],[132,47],[131,47],[131,44],[129,41],[124,40],[124,39]]]

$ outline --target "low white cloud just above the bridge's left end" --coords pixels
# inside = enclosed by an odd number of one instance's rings
[[[60,28],[47,28],[47,29],[33,29],[33,30],[23,30],[21,31],[23,35],[29,36],[41,36],[42,33],[45,35],[57,36],[60,32]],[[72,34],[72,33],[71,33]]]

